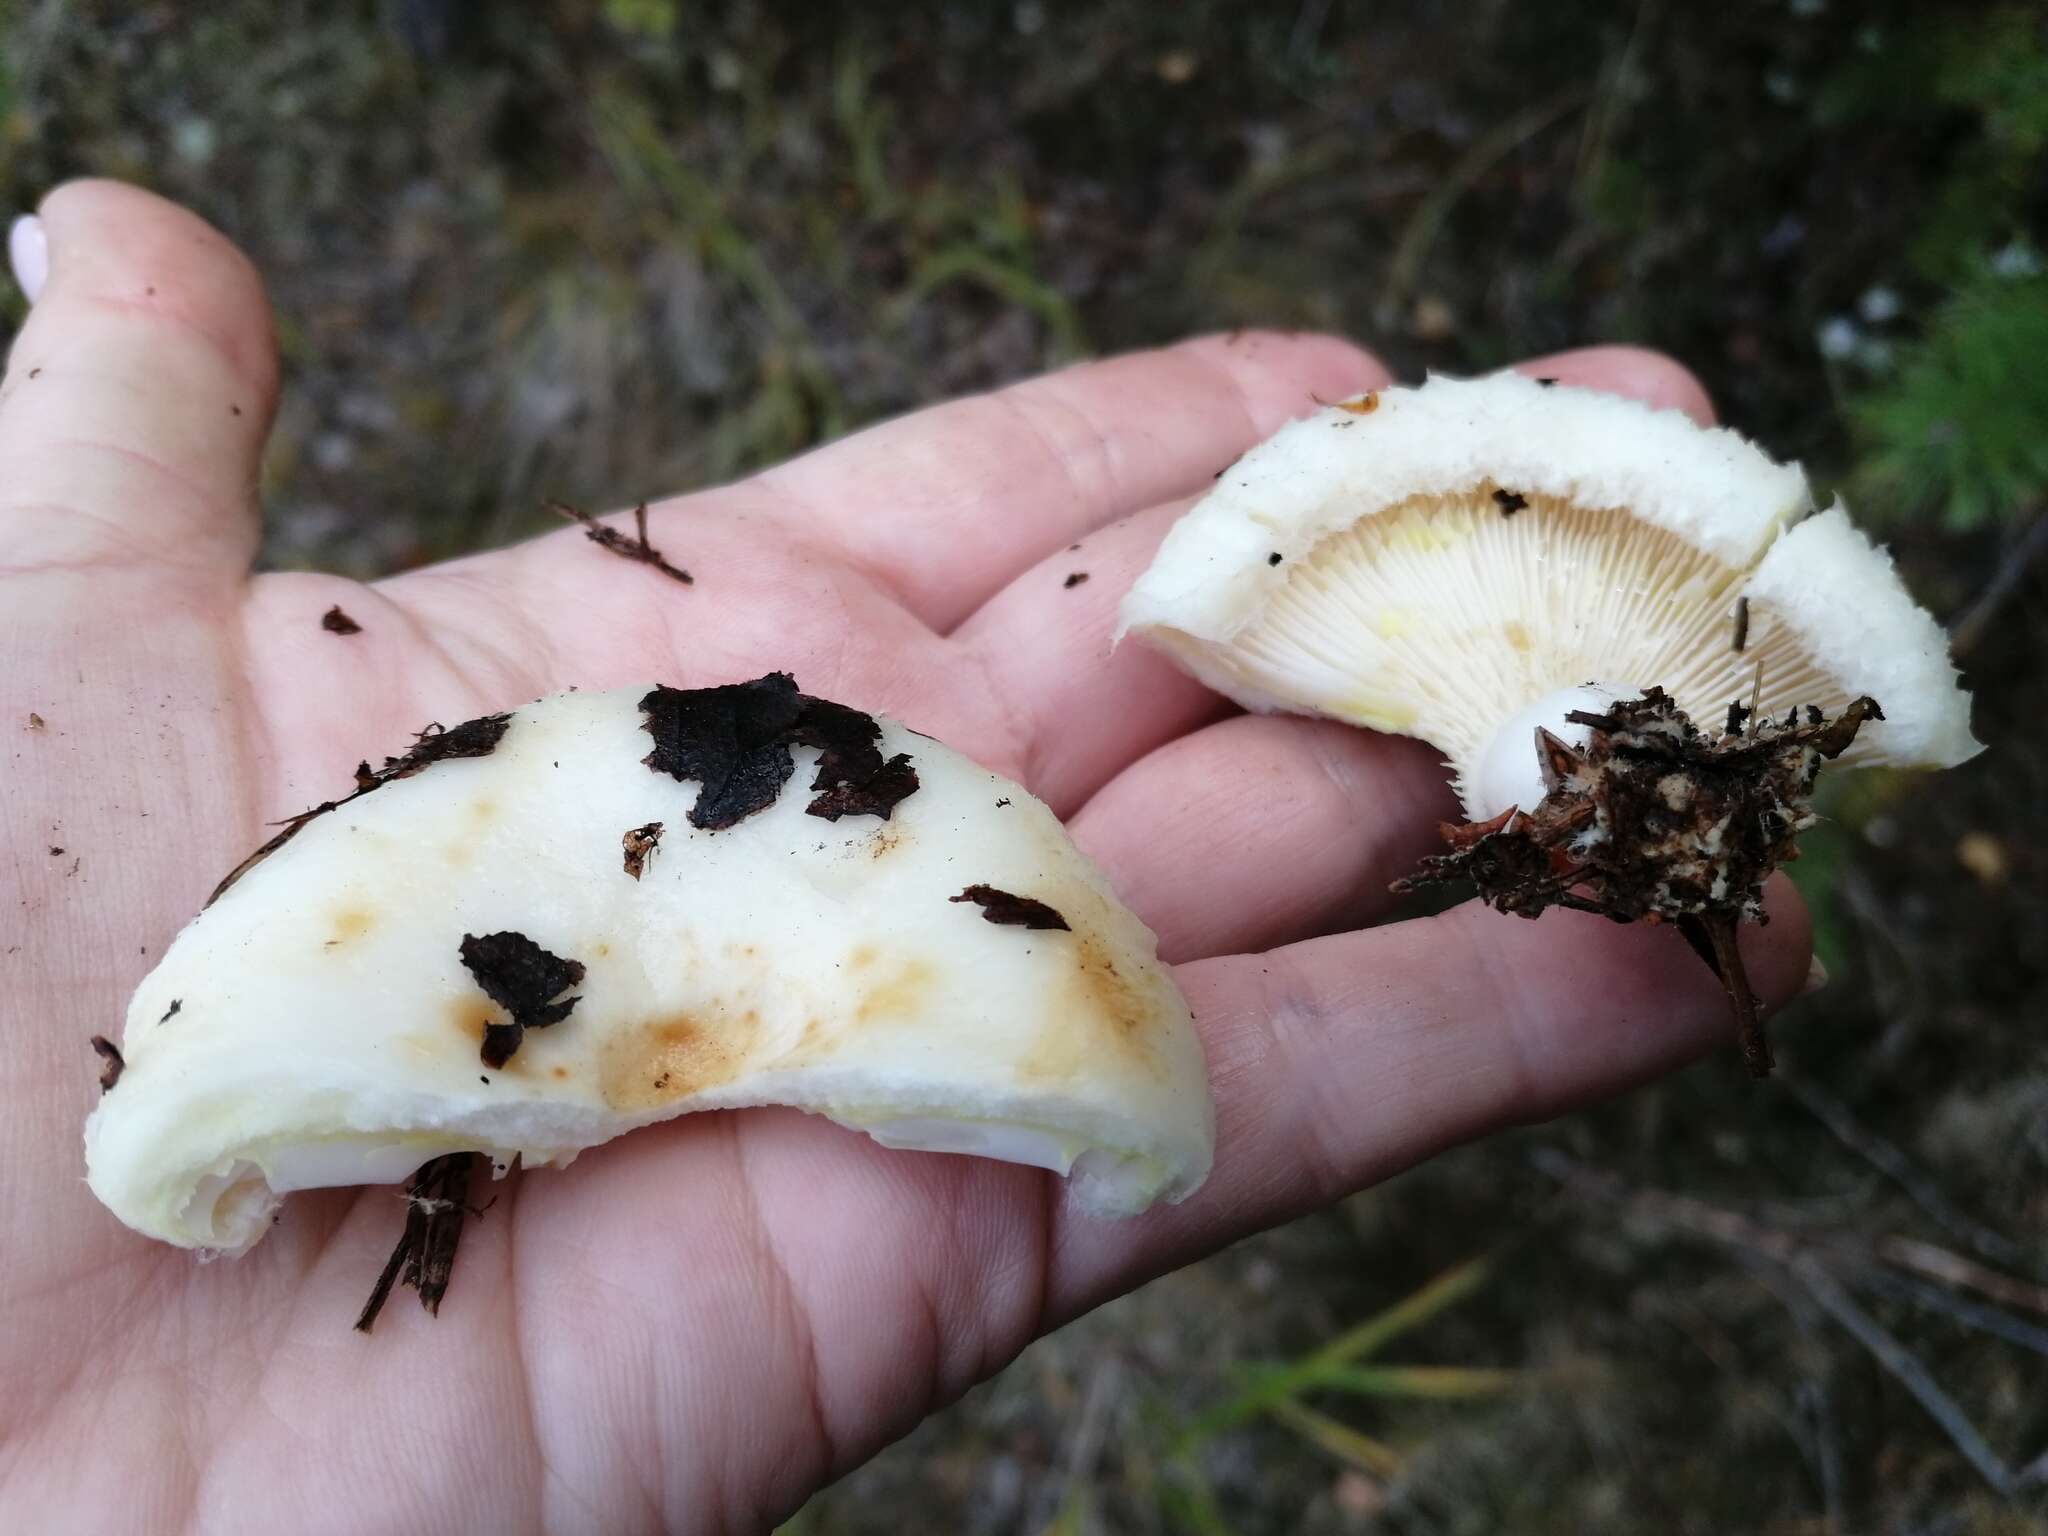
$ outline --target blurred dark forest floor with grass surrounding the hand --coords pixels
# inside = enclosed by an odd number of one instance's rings
[[[1835,981],[1782,1075],[1724,1055],[1161,1280],[791,1530],[2021,1532],[2048,1497],[2044,27],[0,0],[0,190],[127,176],[242,242],[287,367],[264,559],[358,575],[1196,330],[1327,328],[1411,377],[1677,354],[1970,625],[1991,743],[1833,795],[1796,874]]]

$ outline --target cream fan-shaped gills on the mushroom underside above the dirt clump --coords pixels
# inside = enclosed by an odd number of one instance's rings
[[[1495,731],[1563,688],[1661,682],[1696,719],[1731,700],[1843,709],[1853,694],[1798,629],[1743,604],[1745,578],[1626,508],[1481,483],[1313,545],[1212,666],[1247,692],[1436,743],[1477,815]]]

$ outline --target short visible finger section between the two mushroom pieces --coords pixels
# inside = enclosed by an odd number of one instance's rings
[[[1372,922],[1456,813],[1425,741],[1239,715],[1126,768],[1069,831],[1180,963]]]

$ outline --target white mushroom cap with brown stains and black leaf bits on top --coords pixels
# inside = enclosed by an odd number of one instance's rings
[[[1208,1171],[1212,1108],[1153,934],[1059,819],[901,725],[889,819],[807,815],[817,752],[719,831],[651,772],[645,688],[512,715],[487,756],[319,815],[178,934],[129,1006],[88,1180],[152,1237],[242,1251],[287,1190],[395,1182],[477,1149],[502,1174],[690,1110],[791,1104],[897,1147],[1038,1163],[1106,1214]],[[639,879],[621,838],[662,821]],[[989,885],[1067,932],[958,901]],[[465,934],[584,965],[575,1010],[479,1059],[504,1010]],[[172,1006],[176,1004],[176,1010]]]

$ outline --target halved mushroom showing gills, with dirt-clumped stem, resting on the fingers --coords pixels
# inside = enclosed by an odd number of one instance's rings
[[[1122,629],[1249,709],[1442,748],[1470,821],[1409,883],[1675,922],[1757,1073],[1735,924],[1821,764],[1980,750],[1948,637],[1796,465],[1513,373],[1282,428],[1174,524]]]

